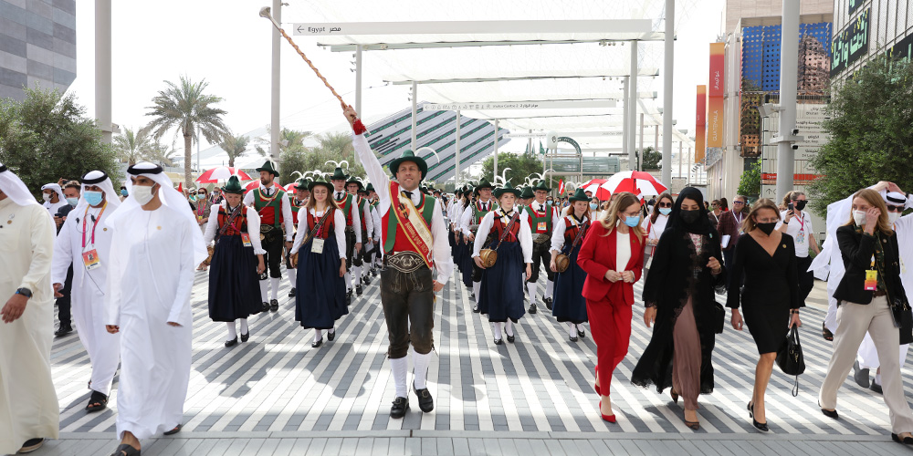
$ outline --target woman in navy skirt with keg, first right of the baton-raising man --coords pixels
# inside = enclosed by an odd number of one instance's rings
[[[478,310],[494,324],[495,345],[503,343],[502,326],[508,342],[513,343],[513,324],[526,313],[523,288],[532,275],[532,233],[529,214],[515,206],[519,193],[510,182],[495,190],[498,208],[482,218],[473,244],[472,259],[482,269]],[[491,267],[482,264],[483,248],[497,249],[498,261]]]

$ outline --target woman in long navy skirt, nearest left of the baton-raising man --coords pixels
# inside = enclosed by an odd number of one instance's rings
[[[336,320],[349,313],[345,299],[345,215],[330,195],[333,185],[314,180],[308,185],[310,200],[299,211],[298,233],[290,254],[298,254],[295,320],[314,328],[311,347],[336,338]]]

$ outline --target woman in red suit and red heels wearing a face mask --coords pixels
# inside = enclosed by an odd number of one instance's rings
[[[627,355],[631,339],[634,284],[644,268],[644,232],[640,200],[620,193],[599,223],[586,233],[577,264],[586,271],[583,297],[596,343],[596,392],[603,420],[615,422],[609,388],[615,367]],[[604,394],[603,394],[604,393]]]

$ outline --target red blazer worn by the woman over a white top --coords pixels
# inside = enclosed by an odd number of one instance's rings
[[[615,266],[615,230],[605,235],[605,228],[599,221],[590,225],[589,233],[583,238],[580,253],[577,254],[577,264],[586,271],[586,281],[583,282],[583,297],[588,301],[609,300],[614,303],[625,303],[634,306],[634,284],[625,284],[623,281],[609,282],[605,279],[607,271],[616,271]],[[635,282],[640,280],[644,270],[644,245],[631,233],[631,259],[624,265],[623,271],[634,272]]]

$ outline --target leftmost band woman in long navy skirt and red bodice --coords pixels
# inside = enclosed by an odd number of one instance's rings
[[[222,190],[226,194],[225,200],[210,208],[210,213],[216,213],[216,219],[206,226],[204,234],[206,245],[215,241],[213,270],[209,273],[209,317],[226,323],[225,346],[234,347],[237,344],[235,322],[240,320],[241,342],[247,342],[250,337],[247,316],[260,313],[257,277],[266,270],[263,254],[267,251],[260,245],[260,216],[256,210],[242,204],[244,188],[237,177],[228,178]],[[206,202],[204,199],[200,204]]]

